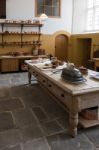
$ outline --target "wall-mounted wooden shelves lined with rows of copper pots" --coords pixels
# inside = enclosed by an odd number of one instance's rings
[[[35,46],[41,46],[41,41],[40,41],[40,36],[41,36],[41,27],[43,26],[43,24],[40,24],[39,22],[36,23],[29,23],[29,22],[25,22],[25,21],[13,21],[11,22],[11,20],[8,20],[9,22],[0,22],[0,25],[2,27],[2,31],[1,31],[1,43],[0,46],[4,47],[4,46],[12,46],[12,45],[17,45],[17,46],[24,46],[24,45],[35,45]],[[9,31],[4,31],[4,27],[20,27],[20,32],[9,32]],[[24,27],[37,27],[37,31],[24,31],[23,28]],[[11,41],[11,42],[7,42],[5,40],[6,36],[10,36],[10,35],[19,35],[20,36],[20,41]],[[24,35],[33,35],[33,36],[38,36],[36,41],[24,41],[23,36]]]

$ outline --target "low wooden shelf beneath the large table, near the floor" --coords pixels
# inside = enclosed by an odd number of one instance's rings
[[[84,128],[88,128],[88,127],[99,125],[99,120],[87,120],[87,119],[85,119],[83,117],[79,117],[79,123]]]

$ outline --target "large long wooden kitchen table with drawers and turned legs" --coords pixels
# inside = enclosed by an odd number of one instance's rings
[[[87,82],[82,84],[73,84],[65,82],[61,79],[61,72],[53,73],[52,71],[44,71],[42,67],[44,63],[28,64],[28,77],[31,83],[31,75],[34,75],[39,83],[50,91],[57,100],[61,101],[69,112],[69,134],[77,135],[78,123],[83,127],[91,127],[99,124],[99,120],[86,120],[79,117],[79,112],[83,109],[99,106],[99,80],[90,78],[88,71],[85,76]],[[64,67],[64,66],[63,66]],[[46,69],[45,69],[46,70]]]

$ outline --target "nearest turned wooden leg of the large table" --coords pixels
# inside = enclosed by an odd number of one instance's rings
[[[69,134],[73,137],[77,135],[78,112],[70,112],[69,116]]]

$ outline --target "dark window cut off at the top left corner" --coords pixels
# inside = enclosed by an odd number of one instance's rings
[[[0,19],[6,18],[6,0],[0,0]]]

